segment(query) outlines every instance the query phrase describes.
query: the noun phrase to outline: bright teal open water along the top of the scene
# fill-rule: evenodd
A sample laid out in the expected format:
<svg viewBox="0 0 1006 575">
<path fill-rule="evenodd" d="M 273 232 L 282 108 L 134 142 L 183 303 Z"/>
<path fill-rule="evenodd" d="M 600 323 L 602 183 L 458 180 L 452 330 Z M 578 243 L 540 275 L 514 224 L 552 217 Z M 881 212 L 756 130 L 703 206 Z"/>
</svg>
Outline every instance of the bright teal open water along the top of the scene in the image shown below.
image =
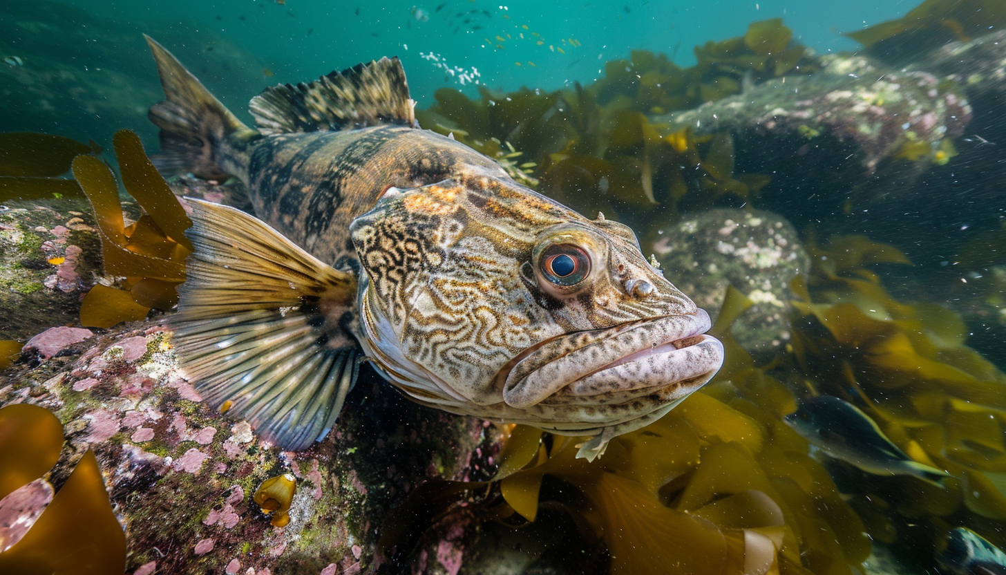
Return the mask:
<svg viewBox="0 0 1006 575">
<path fill-rule="evenodd" d="M 857 44 L 840 32 L 896 18 L 913 7 L 902 0 L 721 0 L 693 4 L 668 0 L 290 0 L 282 5 L 265 0 L 94 0 L 74 5 L 154 37 L 182 23 L 213 30 L 272 69 L 276 76 L 269 82 L 303 82 L 359 61 L 397 55 L 421 107 L 429 103 L 435 89 L 460 88 L 461 75 L 474 77 L 475 71 L 478 76 L 474 80 L 491 89 L 511 91 L 528 86 L 554 90 L 573 81 L 589 84 L 597 80 L 606 60 L 626 57 L 632 49 L 668 54 L 676 50 L 675 61 L 690 65 L 694 63 L 693 45 L 741 35 L 750 22 L 767 18 L 784 18 L 794 30 L 794 39 L 819 52 L 854 49 Z M 474 29 L 477 26 L 480 28 Z M 499 41 L 496 36 L 506 39 Z M 580 45 L 569 45 L 570 38 Z M 538 39 L 544 43 L 538 45 Z M 496 48 L 496 44 L 503 48 Z M 565 53 L 550 50 L 550 45 L 563 48 Z M 431 61 L 431 53 L 456 70 L 455 75 L 445 74 L 443 66 Z"/>
</svg>

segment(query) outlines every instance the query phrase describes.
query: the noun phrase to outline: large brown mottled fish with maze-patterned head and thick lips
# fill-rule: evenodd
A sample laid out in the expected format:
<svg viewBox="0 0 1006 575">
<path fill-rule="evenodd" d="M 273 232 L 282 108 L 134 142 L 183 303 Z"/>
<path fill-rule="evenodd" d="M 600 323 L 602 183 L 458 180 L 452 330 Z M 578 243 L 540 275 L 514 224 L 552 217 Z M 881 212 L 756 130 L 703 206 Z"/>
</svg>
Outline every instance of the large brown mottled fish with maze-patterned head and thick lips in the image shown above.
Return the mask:
<svg viewBox="0 0 1006 575">
<path fill-rule="evenodd" d="M 178 354 L 268 440 L 323 438 L 361 350 L 421 404 L 594 436 L 586 457 L 719 369 L 708 315 L 630 229 L 418 129 L 396 58 L 270 88 L 252 129 L 148 41 L 159 167 L 236 177 L 255 213 L 191 200 Z"/>
</svg>

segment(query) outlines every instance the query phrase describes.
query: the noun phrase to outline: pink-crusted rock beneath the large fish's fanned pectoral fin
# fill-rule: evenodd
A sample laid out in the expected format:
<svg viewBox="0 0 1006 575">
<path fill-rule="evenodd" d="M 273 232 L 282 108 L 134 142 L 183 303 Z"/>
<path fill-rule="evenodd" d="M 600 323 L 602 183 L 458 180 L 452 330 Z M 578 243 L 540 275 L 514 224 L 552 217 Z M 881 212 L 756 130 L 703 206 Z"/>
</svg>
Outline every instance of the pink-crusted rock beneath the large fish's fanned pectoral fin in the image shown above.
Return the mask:
<svg viewBox="0 0 1006 575">
<path fill-rule="evenodd" d="M 63 423 L 53 484 L 94 449 L 126 529 L 127 572 L 370 571 L 390 508 L 429 478 L 465 479 L 498 454 L 494 426 L 412 404 L 369 368 L 323 442 L 282 452 L 185 393 L 169 335 L 147 320 L 0 372 L 0 407 L 30 402 Z M 282 473 L 299 487 L 281 529 L 253 494 Z"/>
</svg>

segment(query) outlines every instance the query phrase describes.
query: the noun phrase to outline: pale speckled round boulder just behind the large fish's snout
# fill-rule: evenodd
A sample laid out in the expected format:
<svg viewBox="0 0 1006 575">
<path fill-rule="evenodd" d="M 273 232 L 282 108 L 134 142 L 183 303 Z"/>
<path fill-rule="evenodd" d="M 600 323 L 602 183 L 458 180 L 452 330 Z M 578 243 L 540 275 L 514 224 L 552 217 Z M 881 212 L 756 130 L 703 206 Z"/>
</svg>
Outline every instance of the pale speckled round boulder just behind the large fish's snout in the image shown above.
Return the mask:
<svg viewBox="0 0 1006 575">
<path fill-rule="evenodd" d="M 769 357 L 790 340 L 790 281 L 810 270 L 796 230 L 770 211 L 732 208 L 685 214 L 660 228 L 653 252 L 664 275 L 715 321 L 727 284 L 754 305 L 733 326 L 737 341 Z"/>
</svg>

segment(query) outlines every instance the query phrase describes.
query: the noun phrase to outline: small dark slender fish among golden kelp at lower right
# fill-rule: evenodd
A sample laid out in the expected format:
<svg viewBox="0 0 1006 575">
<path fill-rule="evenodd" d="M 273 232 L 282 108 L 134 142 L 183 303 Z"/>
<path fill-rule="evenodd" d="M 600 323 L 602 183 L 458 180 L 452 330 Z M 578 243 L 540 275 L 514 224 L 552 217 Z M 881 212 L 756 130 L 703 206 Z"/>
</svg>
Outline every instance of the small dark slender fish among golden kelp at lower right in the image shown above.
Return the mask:
<svg viewBox="0 0 1006 575">
<path fill-rule="evenodd" d="M 901 451 L 859 408 L 832 396 L 800 402 L 786 423 L 832 457 L 876 475 L 912 475 L 943 486 L 950 473 L 919 463 Z"/>
</svg>

